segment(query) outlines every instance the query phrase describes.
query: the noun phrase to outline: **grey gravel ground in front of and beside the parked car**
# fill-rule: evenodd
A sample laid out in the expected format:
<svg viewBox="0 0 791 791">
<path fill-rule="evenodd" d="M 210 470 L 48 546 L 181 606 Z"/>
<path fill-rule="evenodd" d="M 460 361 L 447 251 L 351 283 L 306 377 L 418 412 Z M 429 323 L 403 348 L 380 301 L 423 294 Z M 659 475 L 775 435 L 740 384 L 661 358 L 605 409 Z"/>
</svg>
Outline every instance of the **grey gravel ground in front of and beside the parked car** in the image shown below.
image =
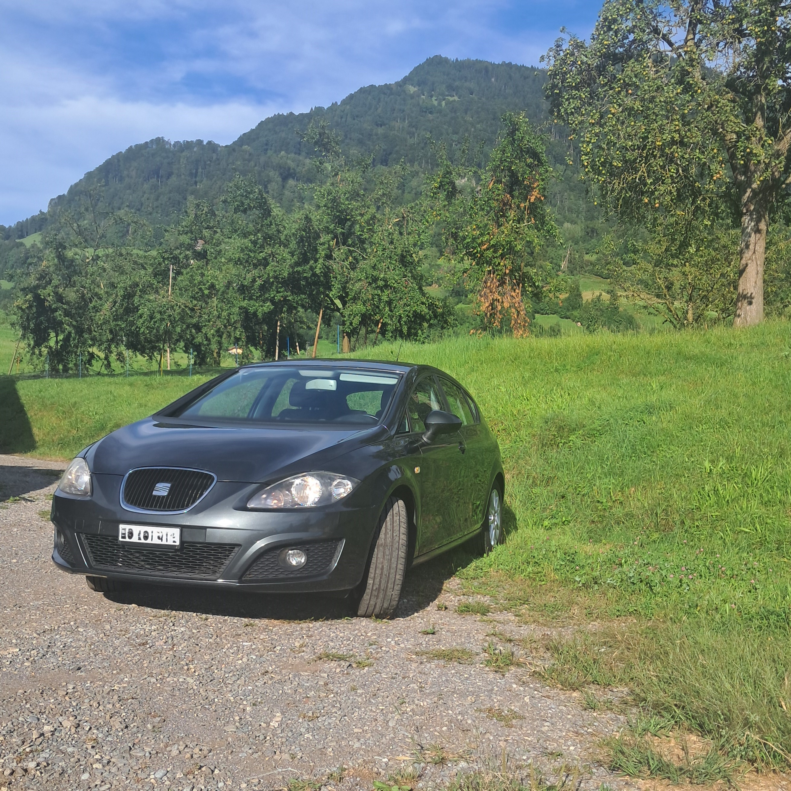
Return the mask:
<svg viewBox="0 0 791 791">
<path fill-rule="evenodd" d="M 60 469 L 0 456 L 0 791 L 430 789 L 504 763 L 624 785 L 596 763 L 623 717 L 531 675 L 522 641 L 547 630 L 457 613 L 447 564 L 410 573 L 387 622 L 318 596 L 105 596 L 50 560 Z M 487 667 L 490 642 L 525 664 Z"/>
</svg>

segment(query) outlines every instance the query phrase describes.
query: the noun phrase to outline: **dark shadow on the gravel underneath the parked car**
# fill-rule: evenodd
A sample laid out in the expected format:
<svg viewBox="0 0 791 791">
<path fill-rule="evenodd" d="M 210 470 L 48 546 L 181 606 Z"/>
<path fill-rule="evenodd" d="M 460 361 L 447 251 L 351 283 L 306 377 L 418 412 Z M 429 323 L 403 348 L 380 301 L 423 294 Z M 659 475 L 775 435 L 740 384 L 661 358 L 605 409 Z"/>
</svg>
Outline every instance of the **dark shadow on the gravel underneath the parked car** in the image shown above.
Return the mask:
<svg viewBox="0 0 791 791">
<path fill-rule="evenodd" d="M 474 557 L 465 545 L 407 572 L 395 617 L 406 618 L 428 607 L 440 595 L 445 582 Z M 326 593 L 272 594 L 238 589 L 129 585 L 123 591 L 104 596 L 116 604 L 229 618 L 303 621 L 338 620 L 354 615 L 350 597 L 332 597 Z"/>
</svg>

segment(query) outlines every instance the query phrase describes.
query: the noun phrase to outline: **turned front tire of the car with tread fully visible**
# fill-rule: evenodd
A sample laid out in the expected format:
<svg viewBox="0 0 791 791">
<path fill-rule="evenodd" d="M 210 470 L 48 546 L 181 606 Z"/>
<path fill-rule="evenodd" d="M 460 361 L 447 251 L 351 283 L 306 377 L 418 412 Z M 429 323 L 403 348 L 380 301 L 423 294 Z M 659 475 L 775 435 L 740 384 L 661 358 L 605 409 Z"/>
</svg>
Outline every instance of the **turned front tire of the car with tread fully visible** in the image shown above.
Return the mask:
<svg viewBox="0 0 791 791">
<path fill-rule="evenodd" d="M 409 517 L 407 504 L 392 497 L 382 509 L 377 524 L 377 543 L 365 581 L 357 614 L 361 618 L 389 618 L 398 605 L 407 570 L 409 547 Z"/>
</svg>

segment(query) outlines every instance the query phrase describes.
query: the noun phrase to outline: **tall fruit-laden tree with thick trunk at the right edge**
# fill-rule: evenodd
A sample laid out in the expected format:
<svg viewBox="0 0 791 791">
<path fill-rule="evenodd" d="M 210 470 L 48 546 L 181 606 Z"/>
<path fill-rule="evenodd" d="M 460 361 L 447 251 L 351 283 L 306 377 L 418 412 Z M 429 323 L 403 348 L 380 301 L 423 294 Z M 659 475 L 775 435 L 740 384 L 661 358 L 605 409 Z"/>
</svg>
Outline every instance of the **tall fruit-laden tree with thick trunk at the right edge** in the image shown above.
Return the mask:
<svg viewBox="0 0 791 791">
<path fill-rule="evenodd" d="M 686 259 L 732 208 L 734 324 L 762 320 L 770 213 L 791 184 L 791 3 L 607 0 L 589 43 L 559 39 L 547 61 L 554 117 L 607 210 Z"/>
</svg>

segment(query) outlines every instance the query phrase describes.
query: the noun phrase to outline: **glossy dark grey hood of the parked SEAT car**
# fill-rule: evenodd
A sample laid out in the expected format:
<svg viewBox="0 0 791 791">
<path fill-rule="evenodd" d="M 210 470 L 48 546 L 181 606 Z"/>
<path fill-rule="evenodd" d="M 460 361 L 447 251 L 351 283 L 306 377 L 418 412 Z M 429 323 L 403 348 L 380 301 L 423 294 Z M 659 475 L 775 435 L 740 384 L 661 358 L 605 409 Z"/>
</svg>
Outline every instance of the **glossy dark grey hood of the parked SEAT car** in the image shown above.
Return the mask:
<svg viewBox="0 0 791 791">
<path fill-rule="evenodd" d="M 183 426 L 146 418 L 108 434 L 86 458 L 91 471 L 99 474 L 126 475 L 135 467 L 190 467 L 213 472 L 221 481 L 263 483 L 280 472 L 285 476 L 322 469 L 381 430 Z"/>
</svg>

